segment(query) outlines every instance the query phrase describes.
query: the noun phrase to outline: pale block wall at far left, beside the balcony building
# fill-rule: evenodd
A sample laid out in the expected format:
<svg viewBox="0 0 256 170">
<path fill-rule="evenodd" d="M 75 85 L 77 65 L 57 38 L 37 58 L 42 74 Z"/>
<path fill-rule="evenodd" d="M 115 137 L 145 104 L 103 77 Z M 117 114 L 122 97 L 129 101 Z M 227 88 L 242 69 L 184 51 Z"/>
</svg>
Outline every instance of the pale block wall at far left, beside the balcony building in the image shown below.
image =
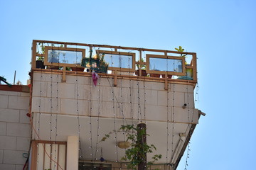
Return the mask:
<svg viewBox="0 0 256 170">
<path fill-rule="evenodd" d="M 28 92 L 0 91 L 0 169 L 23 169 L 31 141 L 28 108 Z"/>
</svg>

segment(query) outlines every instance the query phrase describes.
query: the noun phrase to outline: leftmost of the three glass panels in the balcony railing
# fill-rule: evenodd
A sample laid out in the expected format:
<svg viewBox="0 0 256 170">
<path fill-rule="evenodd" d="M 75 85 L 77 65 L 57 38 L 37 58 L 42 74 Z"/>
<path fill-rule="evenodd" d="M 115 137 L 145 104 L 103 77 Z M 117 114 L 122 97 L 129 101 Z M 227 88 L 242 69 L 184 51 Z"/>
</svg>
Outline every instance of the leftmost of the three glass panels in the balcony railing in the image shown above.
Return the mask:
<svg viewBox="0 0 256 170">
<path fill-rule="evenodd" d="M 48 50 L 48 62 L 80 64 L 82 52 L 68 50 Z"/>
</svg>

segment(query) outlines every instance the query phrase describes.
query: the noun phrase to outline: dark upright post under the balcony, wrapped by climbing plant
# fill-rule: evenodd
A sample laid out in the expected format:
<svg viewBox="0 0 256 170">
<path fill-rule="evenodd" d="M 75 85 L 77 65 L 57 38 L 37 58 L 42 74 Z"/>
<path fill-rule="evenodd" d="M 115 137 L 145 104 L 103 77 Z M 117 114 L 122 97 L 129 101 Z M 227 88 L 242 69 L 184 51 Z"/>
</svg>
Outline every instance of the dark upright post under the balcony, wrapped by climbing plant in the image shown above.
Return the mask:
<svg viewBox="0 0 256 170">
<path fill-rule="evenodd" d="M 137 140 L 140 143 L 140 145 L 146 144 L 146 124 L 145 123 L 139 123 L 137 125 L 139 130 L 137 130 Z M 144 131 L 142 133 L 141 131 Z M 144 150 L 141 150 L 141 155 L 138 155 L 138 159 L 142 159 L 142 162 L 138 165 L 138 170 L 146 170 L 146 154 L 144 153 Z M 144 155 L 144 157 L 142 157 Z"/>
</svg>

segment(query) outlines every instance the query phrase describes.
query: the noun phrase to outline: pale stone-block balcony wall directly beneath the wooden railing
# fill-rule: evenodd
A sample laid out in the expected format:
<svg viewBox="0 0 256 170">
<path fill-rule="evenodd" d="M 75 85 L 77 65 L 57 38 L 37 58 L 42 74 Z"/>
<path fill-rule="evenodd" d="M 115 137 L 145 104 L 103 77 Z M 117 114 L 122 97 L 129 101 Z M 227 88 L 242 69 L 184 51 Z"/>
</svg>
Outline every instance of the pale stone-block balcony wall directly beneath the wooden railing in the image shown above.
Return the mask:
<svg viewBox="0 0 256 170">
<path fill-rule="evenodd" d="M 169 84 L 166 91 L 163 82 L 118 79 L 117 87 L 112 87 L 113 79 L 102 77 L 95 87 L 91 77 L 61 79 L 59 74 L 33 74 L 33 113 L 198 123 L 190 85 Z"/>
</svg>

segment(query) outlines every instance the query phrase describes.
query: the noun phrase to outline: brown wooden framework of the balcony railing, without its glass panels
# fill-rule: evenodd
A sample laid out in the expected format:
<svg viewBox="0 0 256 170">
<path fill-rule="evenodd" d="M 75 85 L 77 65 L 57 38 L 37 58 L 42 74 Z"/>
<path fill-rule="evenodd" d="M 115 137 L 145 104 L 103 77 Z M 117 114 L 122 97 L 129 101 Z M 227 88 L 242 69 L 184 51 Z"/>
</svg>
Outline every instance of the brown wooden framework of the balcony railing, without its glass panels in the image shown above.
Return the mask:
<svg viewBox="0 0 256 170">
<path fill-rule="evenodd" d="M 78 43 L 78 42 L 59 42 L 59 41 L 48 41 L 48 40 L 33 40 L 33 46 L 32 46 L 32 60 L 31 60 L 31 70 L 33 71 L 41 71 L 41 72 L 55 72 L 52 69 L 37 69 L 36 68 L 36 57 L 45 57 L 46 54 L 38 54 L 36 49 L 38 47 L 38 43 L 48 43 L 48 44 L 58 44 L 58 45 L 63 45 L 64 47 L 56 47 L 57 49 L 60 48 L 64 48 L 64 49 L 70 49 L 69 47 L 67 47 L 68 45 L 76 45 L 76 46 L 85 46 L 85 47 L 89 47 L 90 50 L 92 50 L 92 47 L 102 47 L 102 48 L 110 48 L 111 50 L 114 49 L 114 52 L 117 52 L 118 50 L 134 50 L 139 52 L 139 61 L 135 62 L 135 57 L 133 57 L 133 65 L 132 65 L 132 69 L 128 69 L 127 71 L 124 71 L 123 68 L 111 68 L 112 69 L 112 74 L 107 74 L 107 77 L 112 77 L 114 78 L 114 86 L 117 86 L 117 79 L 142 79 L 143 81 L 164 81 L 164 89 L 168 89 L 168 84 L 169 83 L 176 83 L 176 84 L 193 84 L 193 86 L 196 86 L 197 84 L 197 64 L 196 64 L 196 52 L 178 52 L 178 51 L 171 51 L 171 50 L 155 50 L 155 49 L 147 49 L 147 48 L 137 48 L 137 47 L 122 47 L 122 46 L 114 46 L 114 45 L 95 45 L 95 44 L 85 44 L 85 43 Z M 53 48 L 53 47 L 50 47 Z M 75 48 L 76 50 L 78 50 L 78 48 Z M 85 50 L 85 49 L 82 49 Z M 103 51 L 106 52 L 107 50 L 99 50 L 99 51 Z M 149 61 L 147 60 L 146 62 L 142 62 L 142 52 L 162 52 L 164 54 L 164 56 L 166 56 L 168 58 L 169 53 L 173 53 L 173 54 L 179 54 L 179 55 L 192 55 L 192 60 L 190 64 L 184 64 L 185 69 L 193 69 L 193 80 L 186 80 L 186 79 L 169 79 L 168 75 L 172 74 L 172 75 L 184 75 L 184 73 L 180 74 L 178 72 L 158 72 L 157 74 L 164 74 L 166 75 L 165 78 L 156 78 L 156 77 L 142 77 L 142 76 L 127 76 L 127 75 L 119 75 L 117 74 L 117 71 L 121 71 L 121 72 L 133 72 L 135 69 L 135 65 L 139 64 L 140 66 L 142 66 L 142 64 L 146 64 L 149 66 Z M 123 52 L 122 52 L 123 53 Z M 131 52 L 124 52 L 123 54 L 132 54 Z M 85 53 L 84 53 L 85 54 Z M 114 54 L 114 53 L 113 53 Z M 118 54 L 118 52 L 117 52 Z M 119 54 L 121 54 L 119 52 Z M 135 55 L 135 53 L 134 53 Z M 149 55 L 150 56 L 150 55 Z M 161 55 L 158 55 L 161 56 Z M 171 56 L 170 56 L 171 57 Z M 179 59 L 181 59 L 179 57 Z M 48 63 L 47 63 L 48 64 Z M 60 66 L 63 67 L 63 70 L 56 70 L 56 72 L 58 72 L 59 74 L 63 74 L 63 79 L 62 81 L 65 81 L 65 77 L 66 74 L 80 74 L 80 75 L 84 75 L 84 76 L 88 76 L 86 72 L 75 72 L 75 71 L 66 71 L 65 67 L 70 67 L 70 65 L 65 65 L 65 64 L 60 64 L 60 63 L 50 63 L 50 65 L 55 65 L 55 66 Z M 78 66 L 78 64 L 73 64 L 73 67 L 80 67 Z M 149 67 L 147 67 L 149 68 Z M 149 73 L 154 73 L 155 71 L 152 70 L 147 70 Z M 183 71 L 184 72 L 184 71 Z M 179 75 L 178 75 L 179 74 Z M 139 75 L 142 75 L 142 69 L 139 68 Z M 105 74 L 102 74 L 102 76 L 105 76 Z"/>
</svg>

